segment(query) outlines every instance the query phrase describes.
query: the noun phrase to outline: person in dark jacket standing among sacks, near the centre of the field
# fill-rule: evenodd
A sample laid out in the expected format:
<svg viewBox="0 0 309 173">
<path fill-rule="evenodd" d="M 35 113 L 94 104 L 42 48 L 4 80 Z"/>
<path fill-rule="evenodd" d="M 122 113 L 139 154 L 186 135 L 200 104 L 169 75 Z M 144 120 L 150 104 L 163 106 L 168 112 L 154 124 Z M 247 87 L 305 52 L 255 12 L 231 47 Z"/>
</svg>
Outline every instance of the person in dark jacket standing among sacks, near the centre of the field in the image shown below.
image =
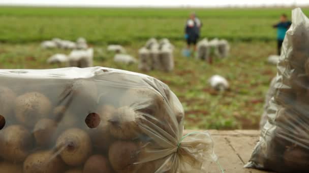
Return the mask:
<svg viewBox="0 0 309 173">
<path fill-rule="evenodd" d="M 198 19 L 195 13 L 190 14 L 190 18 L 187 20 L 186 27 L 184 29 L 184 37 L 187 40 L 187 51 L 190 56 L 190 46 L 193 45 L 194 51 L 196 51 L 196 43 L 200 37 L 200 28 L 202 23 Z"/>
</svg>

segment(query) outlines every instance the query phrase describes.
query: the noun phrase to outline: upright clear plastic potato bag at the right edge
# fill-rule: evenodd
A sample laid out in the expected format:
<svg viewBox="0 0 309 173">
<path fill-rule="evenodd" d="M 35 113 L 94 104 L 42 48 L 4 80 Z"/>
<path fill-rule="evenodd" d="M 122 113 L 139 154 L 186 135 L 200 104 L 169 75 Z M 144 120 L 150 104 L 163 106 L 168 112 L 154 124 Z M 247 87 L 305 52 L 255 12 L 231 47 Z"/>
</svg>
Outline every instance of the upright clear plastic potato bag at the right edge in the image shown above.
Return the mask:
<svg viewBox="0 0 309 173">
<path fill-rule="evenodd" d="M 298 8 L 277 65 L 275 93 L 246 167 L 309 172 L 309 19 Z"/>
</svg>

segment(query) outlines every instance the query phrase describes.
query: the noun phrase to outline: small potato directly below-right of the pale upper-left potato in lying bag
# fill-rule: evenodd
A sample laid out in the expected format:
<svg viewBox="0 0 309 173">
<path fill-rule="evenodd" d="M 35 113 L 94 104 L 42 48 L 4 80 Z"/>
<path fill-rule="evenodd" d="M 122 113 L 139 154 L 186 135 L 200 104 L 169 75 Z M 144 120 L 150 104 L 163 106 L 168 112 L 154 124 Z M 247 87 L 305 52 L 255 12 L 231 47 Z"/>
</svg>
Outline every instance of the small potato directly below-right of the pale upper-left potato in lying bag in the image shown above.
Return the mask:
<svg viewBox="0 0 309 173">
<path fill-rule="evenodd" d="M 48 146 L 57 129 L 56 121 L 48 118 L 39 120 L 33 130 L 35 141 L 38 146 Z"/>
</svg>

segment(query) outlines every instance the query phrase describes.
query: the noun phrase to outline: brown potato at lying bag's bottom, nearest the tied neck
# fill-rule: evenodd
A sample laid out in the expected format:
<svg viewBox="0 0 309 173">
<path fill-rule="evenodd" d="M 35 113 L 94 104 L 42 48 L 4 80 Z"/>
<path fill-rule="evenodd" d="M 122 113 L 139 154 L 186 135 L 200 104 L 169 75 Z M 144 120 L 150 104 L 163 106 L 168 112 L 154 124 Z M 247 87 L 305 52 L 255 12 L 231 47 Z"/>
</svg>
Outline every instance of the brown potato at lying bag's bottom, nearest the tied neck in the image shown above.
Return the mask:
<svg viewBox="0 0 309 173">
<path fill-rule="evenodd" d="M 129 141 L 116 141 L 108 151 L 108 158 L 117 172 L 132 172 L 136 169 L 135 163 L 138 160 L 139 145 Z"/>
</svg>

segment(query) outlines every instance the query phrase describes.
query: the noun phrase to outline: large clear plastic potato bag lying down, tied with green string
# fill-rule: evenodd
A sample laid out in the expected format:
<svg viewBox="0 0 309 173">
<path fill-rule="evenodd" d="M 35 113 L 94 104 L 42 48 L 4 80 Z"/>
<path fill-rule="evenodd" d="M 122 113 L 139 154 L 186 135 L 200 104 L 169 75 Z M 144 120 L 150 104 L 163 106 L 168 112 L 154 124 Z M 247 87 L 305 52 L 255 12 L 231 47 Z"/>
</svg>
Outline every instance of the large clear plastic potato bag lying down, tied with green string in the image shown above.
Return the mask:
<svg viewBox="0 0 309 173">
<path fill-rule="evenodd" d="M 1 172 L 205 172 L 208 133 L 182 138 L 163 82 L 109 69 L 0 70 Z"/>
</svg>

